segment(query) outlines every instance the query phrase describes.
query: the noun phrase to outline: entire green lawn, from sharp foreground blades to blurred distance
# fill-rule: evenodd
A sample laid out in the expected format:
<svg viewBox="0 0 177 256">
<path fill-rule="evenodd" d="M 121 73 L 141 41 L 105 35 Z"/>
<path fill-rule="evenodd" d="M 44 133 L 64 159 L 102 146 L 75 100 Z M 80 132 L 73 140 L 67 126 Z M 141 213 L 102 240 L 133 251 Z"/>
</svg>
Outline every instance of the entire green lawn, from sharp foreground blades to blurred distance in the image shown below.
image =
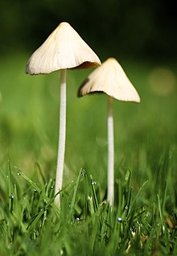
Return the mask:
<svg viewBox="0 0 177 256">
<path fill-rule="evenodd" d="M 153 64 L 122 60 L 142 103 L 114 101 L 111 209 L 105 200 L 107 98 L 78 99 L 90 71 L 68 72 L 60 211 L 53 204 L 59 74 L 27 76 L 27 58 L 10 56 L 0 64 L 0 255 L 176 255 L 176 82 L 161 95 L 150 84 Z"/>
</svg>

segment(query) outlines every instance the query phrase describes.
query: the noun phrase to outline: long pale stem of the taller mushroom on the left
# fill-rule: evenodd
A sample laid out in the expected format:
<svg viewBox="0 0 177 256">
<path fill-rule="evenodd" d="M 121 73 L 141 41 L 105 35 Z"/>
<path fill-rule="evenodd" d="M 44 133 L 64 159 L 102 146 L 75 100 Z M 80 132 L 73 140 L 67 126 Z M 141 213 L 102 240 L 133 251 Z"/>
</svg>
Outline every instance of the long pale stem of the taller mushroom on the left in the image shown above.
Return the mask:
<svg viewBox="0 0 177 256">
<path fill-rule="evenodd" d="M 66 139 L 66 74 L 67 69 L 60 70 L 60 128 L 58 156 L 56 165 L 55 194 L 59 192 L 62 188 L 64 173 L 64 151 Z M 55 203 L 60 207 L 60 194 L 56 196 Z"/>
</svg>

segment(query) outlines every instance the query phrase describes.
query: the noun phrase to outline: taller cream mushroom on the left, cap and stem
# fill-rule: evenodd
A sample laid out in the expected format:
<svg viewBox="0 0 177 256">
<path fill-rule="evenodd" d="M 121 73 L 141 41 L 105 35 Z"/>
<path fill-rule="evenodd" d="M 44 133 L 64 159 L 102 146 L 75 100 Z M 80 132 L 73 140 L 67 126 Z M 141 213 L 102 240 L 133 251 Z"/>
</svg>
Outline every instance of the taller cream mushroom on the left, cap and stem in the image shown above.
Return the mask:
<svg viewBox="0 0 177 256">
<path fill-rule="evenodd" d="M 66 76 L 68 68 L 93 68 L 101 61 L 93 50 L 68 24 L 60 23 L 28 60 L 26 72 L 31 75 L 60 70 L 60 129 L 56 167 L 55 193 L 63 184 L 66 137 Z M 55 203 L 60 207 L 60 194 Z"/>
</svg>

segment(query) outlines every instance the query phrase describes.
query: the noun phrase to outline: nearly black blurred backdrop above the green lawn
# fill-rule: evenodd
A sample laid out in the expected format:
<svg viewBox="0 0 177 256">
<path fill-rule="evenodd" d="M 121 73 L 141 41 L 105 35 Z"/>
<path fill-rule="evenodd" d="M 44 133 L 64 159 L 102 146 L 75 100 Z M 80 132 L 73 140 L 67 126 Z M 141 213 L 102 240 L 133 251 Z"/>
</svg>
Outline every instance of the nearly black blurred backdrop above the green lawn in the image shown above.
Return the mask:
<svg viewBox="0 0 177 256">
<path fill-rule="evenodd" d="M 0 53 L 33 52 L 67 21 L 98 56 L 157 61 L 177 56 L 175 2 L 8 0 L 0 4 Z"/>
</svg>

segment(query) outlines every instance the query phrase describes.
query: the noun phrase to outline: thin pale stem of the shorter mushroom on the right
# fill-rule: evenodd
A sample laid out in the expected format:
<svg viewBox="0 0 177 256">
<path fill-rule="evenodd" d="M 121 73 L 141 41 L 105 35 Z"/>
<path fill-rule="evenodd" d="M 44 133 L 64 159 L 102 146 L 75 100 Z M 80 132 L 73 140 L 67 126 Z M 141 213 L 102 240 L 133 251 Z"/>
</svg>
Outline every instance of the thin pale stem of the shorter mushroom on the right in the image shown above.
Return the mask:
<svg viewBox="0 0 177 256">
<path fill-rule="evenodd" d="M 108 98 L 108 201 L 114 200 L 113 97 Z"/>
</svg>

